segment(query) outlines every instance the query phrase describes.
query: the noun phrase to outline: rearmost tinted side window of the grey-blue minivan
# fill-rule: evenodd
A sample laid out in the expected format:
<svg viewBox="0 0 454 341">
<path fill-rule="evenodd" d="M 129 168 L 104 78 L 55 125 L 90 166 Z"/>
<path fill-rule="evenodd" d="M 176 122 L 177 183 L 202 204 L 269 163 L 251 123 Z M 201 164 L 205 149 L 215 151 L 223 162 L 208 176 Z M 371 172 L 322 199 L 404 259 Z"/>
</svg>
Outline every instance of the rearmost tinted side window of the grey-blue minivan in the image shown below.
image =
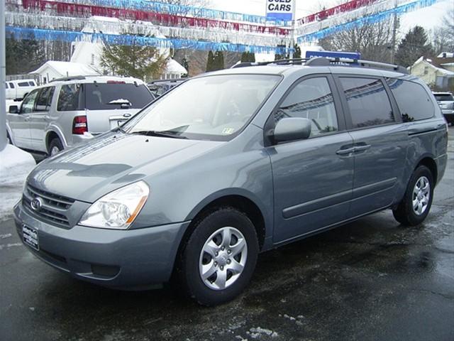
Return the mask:
<svg viewBox="0 0 454 341">
<path fill-rule="evenodd" d="M 433 117 L 432 101 L 422 85 L 395 78 L 387 78 L 386 81 L 394 99 L 396 99 L 404 122 L 420 121 Z"/>
</svg>

